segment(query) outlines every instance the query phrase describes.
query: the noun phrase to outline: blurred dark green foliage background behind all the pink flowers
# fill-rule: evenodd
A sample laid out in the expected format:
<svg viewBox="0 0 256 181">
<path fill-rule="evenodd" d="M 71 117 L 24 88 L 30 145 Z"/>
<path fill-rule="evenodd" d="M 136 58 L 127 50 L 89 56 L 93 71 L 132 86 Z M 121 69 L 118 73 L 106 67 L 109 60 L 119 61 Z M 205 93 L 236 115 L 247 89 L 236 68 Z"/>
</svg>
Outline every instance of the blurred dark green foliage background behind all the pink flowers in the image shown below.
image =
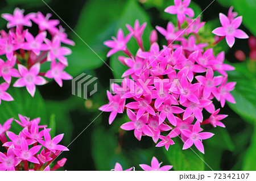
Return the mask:
<svg viewBox="0 0 256 181">
<path fill-rule="evenodd" d="M 164 13 L 172 0 L 44 0 L 98 55 L 109 64 L 104 64 L 65 23 L 61 25 L 68 32 L 69 38 L 76 46 L 68 57 L 69 66 L 66 69 L 73 77 L 81 73 L 98 78 L 98 91 L 88 100 L 71 95 L 71 81 L 65 81 L 63 88 L 50 82 L 38 86 L 35 98 L 32 99 L 26 89 L 11 89 L 15 102 L 2 102 L 0 106 L 0 123 L 10 117 L 18 118 L 18 113 L 34 117 L 42 117 L 42 123 L 52 128 L 52 135 L 65 133 L 62 144 L 68 145 L 81 133 L 100 113 L 98 107 L 106 104 L 106 90 L 109 90 L 109 79 L 120 78 L 126 68 L 117 60 L 118 54 L 106 58 L 108 48 L 103 45 L 105 40 L 115 36 L 118 28 L 125 30 L 125 24 L 147 22 L 144 33 L 146 48 L 149 47 L 148 36 L 156 25 L 166 27 L 168 21 L 176 23 L 175 15 Z M 52 13 L 52 18 L 59 19 L 41 0 L 1 0 L 0 13 L 13 13 L 15 7 L 24 9 L 25 13 L 41 11 L 44 15 Z M 190 7 L 195 16 L 199 15 L 212 0 L 192 0 Z M 201 35 L 213 39 L 210 33 L 220 26 L 219 12 L 227 14 L 230 6 L 243 16 L 241 29 L 249 36 L 256 35 L 256 1 L 254 0 L 216 0 L 202 14 L 206 21 Z M 0 20 L 0 29 L 6 30 L 6 20 Z M 127 30 L 125 30 L 127 33 Z M 159 35 L 159 44 L 164 44 Z M 137 49 L 135 41 L 128 47 L 134 52 Z M 229 116 L 224 120 L 225 128 L 205 127 L 205 130 L 216 133 L 204 141 L 205 154 L 197 154 L 204 159 L 213 170 L 256 170 L 256 63 L 249 58 L 248 40 L 238 40 L 232 49 L 225 41 L 216 47 L 215 54 L 221 50 L 226 52 L 226 62 L 236 67 L 229 73 L 229 81 L 236 81 L 237 86 L 232 94 L 237 104 L 226 104 L 221 109 L 222 114 Z M 241 62 L 234 52 L 242 50 L 247 58 Z M 89 87 L 93 90 L 93 86 Z M 216 102 L 216 109 L 220 104 Z M 207 117 L 207 113 L 205 117 Z M 120 125 L 127 121 L 126 114 L 118 115 L 114 123 L 108 124 L 109 113 L 102 113 L 70 146 L 69 150 L 60 155 L 68 159 L 66 170 L 110 170 L 115 162 L 121 163 L 124 169 L 139 164 L 150 164 L 155 156 L 164 165 L 174 165 L 174 170 L 210 170 L 192 150 L 181 150 L 179 138 L 174 141 L 169 151 L 155 148 L 150 137 L 138 141 L 132 131 L 123 132 Z M 13 131 L 18 130 L 13 124 Z M 192 147 L 194 149 L 194 146 Z M 194 149 L 196 150 L 196 149 Z"/>
</svg>

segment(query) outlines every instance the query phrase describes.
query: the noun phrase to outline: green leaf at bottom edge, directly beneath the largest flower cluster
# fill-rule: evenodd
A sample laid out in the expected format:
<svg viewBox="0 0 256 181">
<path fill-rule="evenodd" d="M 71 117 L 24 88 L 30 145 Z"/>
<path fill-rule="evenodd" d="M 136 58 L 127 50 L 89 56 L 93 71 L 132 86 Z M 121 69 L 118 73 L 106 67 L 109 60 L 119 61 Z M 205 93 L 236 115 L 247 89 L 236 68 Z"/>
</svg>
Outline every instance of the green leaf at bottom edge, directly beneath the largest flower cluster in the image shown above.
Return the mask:
<svg viewBox="0 0 256 181">
<path fill-rule="evenodd" d="M 164 151 L 174 170 L 193 171 L 204 170 L 204 155 L 194 146 L 192 149 L 182 150 L 183 143 L 177 140 L 174 145 L 170 146 L 168 151 Z"/>
</svg>

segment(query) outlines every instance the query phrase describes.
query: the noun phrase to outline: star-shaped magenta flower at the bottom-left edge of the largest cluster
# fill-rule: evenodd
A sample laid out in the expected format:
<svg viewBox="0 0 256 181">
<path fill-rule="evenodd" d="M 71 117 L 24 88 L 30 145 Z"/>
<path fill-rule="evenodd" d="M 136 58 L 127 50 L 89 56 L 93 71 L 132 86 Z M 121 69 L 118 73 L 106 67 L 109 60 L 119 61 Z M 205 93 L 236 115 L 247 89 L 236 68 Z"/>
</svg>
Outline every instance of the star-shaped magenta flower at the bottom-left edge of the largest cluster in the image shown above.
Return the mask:
<svg viewBox="0 0 256 181">
<path fill-rule="evenodd" d="M 136 118 L 135 113 L 129 109 L 127 109 L 127 115 L 131 121 L 122 124 L 120 128 L 126 131 L 134 130 L 134 136 L 139 141 L 141 141 L 142 133 L 146 134 L 147 136 L 154 136 L 153 132 L 146 124 L 148 121 L 148 113 L 141 116 L 141 118 L 138 120 Z"/>
</svg>

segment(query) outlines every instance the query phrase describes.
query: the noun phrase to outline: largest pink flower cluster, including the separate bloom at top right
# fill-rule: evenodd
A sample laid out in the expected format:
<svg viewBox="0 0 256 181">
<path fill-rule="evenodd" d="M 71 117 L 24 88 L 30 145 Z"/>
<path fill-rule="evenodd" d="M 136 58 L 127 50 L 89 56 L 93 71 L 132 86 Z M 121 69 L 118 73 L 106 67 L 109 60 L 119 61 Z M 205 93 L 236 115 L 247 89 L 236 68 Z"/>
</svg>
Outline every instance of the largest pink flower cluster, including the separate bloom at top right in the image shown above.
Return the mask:
<svg viewBox="0 0 256 181">
<path fill-rule="evenodd" d="M 121 128 L 133 130 L 138 140 L 142 136 L 150 136 L 157 143 L 160 139 L 156 146 L 165 146 L 168 150 L 170 145 L 175 144 L 173 138 L 179 137 L 184 142 L 183 149 L 195 144 L 204 153 L 202 140 L 212 137 L 213 133 L 202 132 L 201 125 L 225 127 L 220 120 L 226 115 L 218 114 L 220 109 L 216 110 L 213 99 L 220 102 L 221 107 L 224 107 L 226 101 L 236 103 L 230 94 L 236 82 L 227 82 L 226 73 L 234 68 L 224 64 L 224 52 L 216 56 L 213 48 L 207 48 L 208 43 L 199 42 L 198 32 L 204 22 L 200 22 L 199 18 L 191 19 L 194 13 L 188 8 L 190 0 L 174 2 L 175 5 L 167 7 L 166 12 L 177 14 L 178 26 L 175 27 L 172 22 L 168 23 L 167 29 L 156 26 L 156 30 L 167 40 L 163 48 L 156 43 L 158 37 L 153 30 L 150 50 L 144 50 L 141 39 L 145 24 L 140 27 L 138 20 L 134 28 L 127 25 L 129 35 L 124 36 L 120 29 L 117 38 L 105 42 L 105 45 L 112 48 L 108 56 L 118 51 L 126 54 L 118 59 L 128 69 L 122 75 L 121 86 L 112 84 L 114 95 L 108 91 L 109 103 L 99 110 L 111 112 L 109 124 L 112 124 L 117 113 L 126 110 L 131 121 L 121 125 Z M 230 45 L 233 36 L 245 36 L 235 30 L 241 24 L 241 16 L 234 19 L 234 12 L 229 16 L 230 20 L 222 14 L 220 18 L 227 32 L 221 36 L 226 36 Z M 230 31 L 233 28 L 234 33 L 230 33 L 228 28 Z M 241 36 L 237 36 L 240 33 Z M 127 48 L 131 37 L 137 40 L 139 46 L 135 55 Z M 203 110 L 209 116 L 203 116 Z"/>
</svg>

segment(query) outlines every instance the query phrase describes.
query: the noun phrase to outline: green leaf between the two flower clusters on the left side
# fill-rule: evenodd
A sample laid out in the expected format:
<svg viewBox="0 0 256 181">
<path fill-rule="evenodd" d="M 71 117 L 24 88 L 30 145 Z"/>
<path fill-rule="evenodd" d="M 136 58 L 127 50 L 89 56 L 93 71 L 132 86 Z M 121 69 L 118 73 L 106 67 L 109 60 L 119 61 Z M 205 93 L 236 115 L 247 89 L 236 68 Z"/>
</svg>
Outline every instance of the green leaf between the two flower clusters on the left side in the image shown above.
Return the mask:
<svg viewBox="0 0 256 181">
<path fill-rule="evenodd" d="M 14 117 L 19 120 L 18 114 L 34 119 L 41 117 L 40 124 L 47 124 L 46 107 L 44 100 L 39 91 L 36 90 L 34 98 L 28 94 L 26 88 L 10 87 L 7 92 L 13 96 L 14 101 L 2 101 L 0 105 L 0 123 L 4 123 L 7 119 Z M 20 132 L 20 126 L 16 123 L 12 124 L 11 131 Z"/>
</svg>

